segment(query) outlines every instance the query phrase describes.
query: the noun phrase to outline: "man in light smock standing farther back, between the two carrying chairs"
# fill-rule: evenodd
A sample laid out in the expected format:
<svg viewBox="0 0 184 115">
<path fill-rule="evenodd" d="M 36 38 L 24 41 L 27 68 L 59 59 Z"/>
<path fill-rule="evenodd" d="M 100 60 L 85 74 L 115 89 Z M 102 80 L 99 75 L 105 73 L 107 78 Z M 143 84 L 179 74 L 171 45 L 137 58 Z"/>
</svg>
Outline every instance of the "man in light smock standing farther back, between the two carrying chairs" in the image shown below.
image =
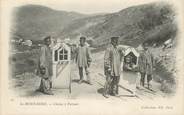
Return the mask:
<svg viewBox="0 0 184 115">
<path fill-rule="evenodd" d="M 85 69 L 86 77 L 87 77 L 87 83 L 92 85 L 91 79 L 90 79 L 90 72 L 89 67 L 91 64 L 91 52 L 89 47 L 86 45 L 86 38 L 80 37 L 80 44 L 76 50 L 76 62 L 79 68 L 79 84 L 81 84 L 84 81 L 84 75 L 83 75 L 83 69 Z"/>
</svg>

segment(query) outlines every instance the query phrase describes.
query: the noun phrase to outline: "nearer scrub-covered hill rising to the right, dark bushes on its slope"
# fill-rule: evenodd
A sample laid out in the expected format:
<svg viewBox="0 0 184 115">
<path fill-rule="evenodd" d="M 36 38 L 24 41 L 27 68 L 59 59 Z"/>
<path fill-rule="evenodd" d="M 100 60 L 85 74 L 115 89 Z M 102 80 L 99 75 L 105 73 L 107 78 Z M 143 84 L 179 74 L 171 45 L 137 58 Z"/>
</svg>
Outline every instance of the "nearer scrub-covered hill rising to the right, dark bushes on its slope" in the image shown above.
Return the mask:
<svg viewBox="0 0 184 115">
<path fill-rule="evenodd" d="M 148 39 L 163 42 L 170 38 L 170 34 L 176 33 L 173 19 L 174 12 L 168 4 L 145 4 L 112 14 L 75 20 L 64 28 L 60 37 L 75 39 L 80 34 L 86 35 L 94 40 L 94 47 L 106 45 L 111 36 L 120 36 L 121 43 L 131 46 Z"/>
</svg>

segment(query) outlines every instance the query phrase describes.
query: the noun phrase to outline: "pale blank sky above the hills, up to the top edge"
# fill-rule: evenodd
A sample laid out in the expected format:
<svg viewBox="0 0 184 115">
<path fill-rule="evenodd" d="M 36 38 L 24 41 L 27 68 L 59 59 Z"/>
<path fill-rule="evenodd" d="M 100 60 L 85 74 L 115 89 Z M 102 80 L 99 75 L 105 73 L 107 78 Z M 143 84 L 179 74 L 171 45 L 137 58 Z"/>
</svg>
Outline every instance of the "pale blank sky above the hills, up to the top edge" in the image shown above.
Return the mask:
<svg viewBox="0 0 184 115">
<path fill-rule="evenodd" d="M 11 1 L 11 4 L 14 4 L 15 6 L 35 4 L 47 6 L 56 10 L 75 11 L 83 14 L 95 14 L 117 12 L 130 6 L 155 1 L 158 0 L 14 0 Z"/>
</svg>

